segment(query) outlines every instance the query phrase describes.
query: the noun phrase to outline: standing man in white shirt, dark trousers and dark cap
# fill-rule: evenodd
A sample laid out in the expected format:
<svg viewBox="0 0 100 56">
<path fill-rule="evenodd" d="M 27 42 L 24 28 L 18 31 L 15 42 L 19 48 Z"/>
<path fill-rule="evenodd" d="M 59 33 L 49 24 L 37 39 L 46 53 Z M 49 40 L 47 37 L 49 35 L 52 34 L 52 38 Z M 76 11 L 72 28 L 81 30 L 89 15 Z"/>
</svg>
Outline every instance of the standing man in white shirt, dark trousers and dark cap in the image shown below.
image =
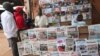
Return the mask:
<svg viewBox="0 0 100 56">
<path fill-rule="evenodd" d="M 17 26 L 13 15 L 13 5 L 10 2 L 4 2 L 3 8 L 5 11 L 1 14 L 1 23 L 3 31 L 8 39 L 9 46 L 12 49 L 13 56 L 19 56 L 17 48 Z"/>
</svg>

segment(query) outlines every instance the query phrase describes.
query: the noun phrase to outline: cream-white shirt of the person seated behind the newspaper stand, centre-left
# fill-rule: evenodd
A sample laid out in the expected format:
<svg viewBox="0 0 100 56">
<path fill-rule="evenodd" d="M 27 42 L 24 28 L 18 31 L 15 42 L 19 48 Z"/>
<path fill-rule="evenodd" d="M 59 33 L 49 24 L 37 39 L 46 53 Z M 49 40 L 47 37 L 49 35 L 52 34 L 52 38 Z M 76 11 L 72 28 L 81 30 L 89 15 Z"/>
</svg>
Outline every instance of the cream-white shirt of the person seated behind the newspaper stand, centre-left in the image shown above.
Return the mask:
<svg viewBox="0 0 100 56">
<path fill-rule="evenodd" d="M 35 26 L 44 27 L 48 25 L 48 19 L 45 15 L 43 16 L 36 16 L 35 18 Z"/>
</svg>

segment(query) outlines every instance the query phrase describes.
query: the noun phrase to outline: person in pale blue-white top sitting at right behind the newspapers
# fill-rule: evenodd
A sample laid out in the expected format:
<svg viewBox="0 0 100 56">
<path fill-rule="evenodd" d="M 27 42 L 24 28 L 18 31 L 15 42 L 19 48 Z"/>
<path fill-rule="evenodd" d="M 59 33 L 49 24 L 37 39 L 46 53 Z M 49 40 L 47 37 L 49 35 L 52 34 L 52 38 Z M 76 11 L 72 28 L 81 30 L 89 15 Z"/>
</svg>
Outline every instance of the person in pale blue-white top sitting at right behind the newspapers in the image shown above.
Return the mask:
<svg viewBox="0 0 100 56">
<path fill-rule="evenodd" d="M 72 26 L 86 25 L 86 22 L 83 20 L 82 12 L 79 12 L 79 14 L 73 16 L 73 20 L 72 20 L 71 24 L 72 24 Z"/>
</svg>

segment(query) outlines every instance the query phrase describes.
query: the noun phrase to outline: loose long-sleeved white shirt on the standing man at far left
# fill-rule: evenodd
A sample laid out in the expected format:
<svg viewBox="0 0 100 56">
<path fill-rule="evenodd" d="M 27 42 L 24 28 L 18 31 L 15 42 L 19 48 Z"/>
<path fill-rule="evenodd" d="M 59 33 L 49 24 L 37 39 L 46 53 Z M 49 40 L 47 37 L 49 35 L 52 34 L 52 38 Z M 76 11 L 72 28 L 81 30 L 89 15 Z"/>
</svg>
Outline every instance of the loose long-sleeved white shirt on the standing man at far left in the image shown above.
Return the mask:
<svg viewBox="0 0 100 56">
<path fill-rule="evenodd" d="M 4 34 L 7 38 L 17 37 L 17 27 L 13 14 L 9 11 L 4 11 L 1 14 L 1 23 Z"/>
</svg>

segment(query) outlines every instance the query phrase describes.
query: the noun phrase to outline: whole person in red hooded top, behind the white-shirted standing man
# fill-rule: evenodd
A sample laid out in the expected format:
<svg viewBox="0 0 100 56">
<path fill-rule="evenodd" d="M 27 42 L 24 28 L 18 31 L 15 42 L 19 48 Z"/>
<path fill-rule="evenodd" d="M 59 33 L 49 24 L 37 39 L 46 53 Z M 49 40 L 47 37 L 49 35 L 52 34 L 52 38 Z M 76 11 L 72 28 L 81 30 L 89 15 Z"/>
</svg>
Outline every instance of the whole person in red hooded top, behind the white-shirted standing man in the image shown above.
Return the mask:
<svg viewBox="0 0 100 56">
<path fill-rule="evenodd" d="M 23 16 L 23 7 L 16 7 L 16 9 L 14 10 L 14 17 L 15 17 L 15 21 L 16 21 L 16 25 L 18 28 L 18 38 L 21 41 L 20 38 L 20 31 L 25 30 L 27 27 L 25 25 L 25 19 Z"/>
</svg>

